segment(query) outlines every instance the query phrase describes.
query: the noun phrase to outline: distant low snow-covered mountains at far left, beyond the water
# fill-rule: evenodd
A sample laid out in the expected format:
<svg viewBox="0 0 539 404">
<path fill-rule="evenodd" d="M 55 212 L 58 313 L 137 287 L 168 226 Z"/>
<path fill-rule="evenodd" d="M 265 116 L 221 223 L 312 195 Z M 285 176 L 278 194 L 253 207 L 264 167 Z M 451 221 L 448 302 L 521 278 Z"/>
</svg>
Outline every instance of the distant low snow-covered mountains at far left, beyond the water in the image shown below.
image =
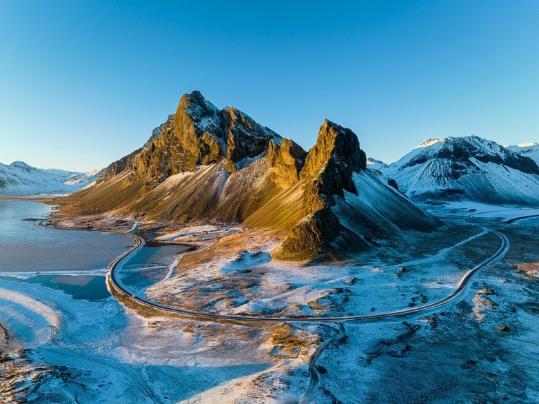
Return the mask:
<svg viewBox="0 0 539 404">
<path fill-rule="evenodd" d="M 96 181 L 102 172 L 45 170 L 23 161 L 10 165 L 0 163 L 0 195 L 70 194 Z"/>
</svg>

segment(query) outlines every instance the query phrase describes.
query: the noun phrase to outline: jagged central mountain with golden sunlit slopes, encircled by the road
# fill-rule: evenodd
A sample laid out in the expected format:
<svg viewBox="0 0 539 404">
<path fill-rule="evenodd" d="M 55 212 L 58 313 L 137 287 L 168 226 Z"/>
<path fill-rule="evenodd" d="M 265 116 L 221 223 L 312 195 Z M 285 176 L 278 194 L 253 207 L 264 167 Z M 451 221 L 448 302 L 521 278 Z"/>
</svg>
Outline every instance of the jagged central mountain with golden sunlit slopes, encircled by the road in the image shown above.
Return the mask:
<svg viewBox="0 0 539 404">
<path fill-rule="evenodd" d="M 243 223 L 278 237 L 272 254 L 284 259 L 340 256 L 440 225 L 366 167 L 352 130 L 326 120 L 307 153 L 195 91 L 142 148 L 60 203 L 66 215 Z"/>
</svg>

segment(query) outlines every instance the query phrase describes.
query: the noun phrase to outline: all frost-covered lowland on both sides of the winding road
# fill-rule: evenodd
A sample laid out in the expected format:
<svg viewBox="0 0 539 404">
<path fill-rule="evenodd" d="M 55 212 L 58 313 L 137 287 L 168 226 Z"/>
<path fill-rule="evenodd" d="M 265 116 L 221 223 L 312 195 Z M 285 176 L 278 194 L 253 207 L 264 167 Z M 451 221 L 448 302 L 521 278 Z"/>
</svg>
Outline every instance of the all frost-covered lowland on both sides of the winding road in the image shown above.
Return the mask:
<svg viewBox="0 0 539 404">
<path fill-rule="evenodd" d="M 345 338 L 316 360 L 311 399 L 537 402 L 538 221 L 504 223 L 515 212 L 533 214 L 516 207 L 431 209 L 449 223 L 440 232 L 410 232 L 347 263 L 275 262 L 266 234 L 205 226 L 158 235 L 167 243 L 196 243 L 198 250 L 150 243 L 120 273 L 136 293 L 197 310 L 381 313 L 451 293 L 498 248 L 500 240 L 487 231 L 493 228 L 508 237 L 507 255 L 480 270 L 451 303 L 402 318 L 344 323 Z M 0 401 L 296 403 L 309 385 L 309 358 L 337 334 L 330 321 L 261 325 L 163 316 L 103 293 L 102 272 L 79 268 L 71 275 L 0 277 Z"/>
</svg>

